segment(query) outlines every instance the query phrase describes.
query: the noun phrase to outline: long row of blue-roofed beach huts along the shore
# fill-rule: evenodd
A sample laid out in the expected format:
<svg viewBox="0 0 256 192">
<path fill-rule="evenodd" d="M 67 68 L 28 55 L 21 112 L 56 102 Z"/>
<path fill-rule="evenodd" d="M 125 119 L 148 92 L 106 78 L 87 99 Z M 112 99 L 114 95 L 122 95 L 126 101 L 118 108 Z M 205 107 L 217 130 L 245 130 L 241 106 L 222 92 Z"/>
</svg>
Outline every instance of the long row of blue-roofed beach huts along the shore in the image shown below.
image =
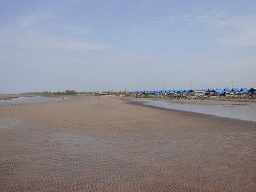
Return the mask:
<svg viewBox="0 0 256 192">
<path fill-rule="evenodd" d="M 134 94 L 187 94 L 187 95 L 237 95 L 237 94 L 256 94 L 256 88 L 233 88 L 233 89 L 202 89 L 202 90 L 162 90 L 162 91 L 134 91 Z"/>
</svg>

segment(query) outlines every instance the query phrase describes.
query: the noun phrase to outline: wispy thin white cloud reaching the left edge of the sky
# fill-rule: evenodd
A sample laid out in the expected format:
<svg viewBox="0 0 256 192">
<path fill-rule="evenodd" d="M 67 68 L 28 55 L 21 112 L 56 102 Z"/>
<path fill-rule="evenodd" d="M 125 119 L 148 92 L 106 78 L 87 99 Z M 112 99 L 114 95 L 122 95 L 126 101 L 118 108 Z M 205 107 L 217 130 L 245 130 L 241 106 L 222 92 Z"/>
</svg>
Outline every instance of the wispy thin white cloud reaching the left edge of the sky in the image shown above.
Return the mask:
<svg viewBox="0 0 256 192">
<path fill-rule="evenodd" d="M 45 15 L 45 16 L 44 16 Z M 51 23 L 52 16 L 30 14 L 0 29 L 1 47 L 55 48 L 74 51 L 106 50 L 108 45 L 81 40 L 90 30 L 73 25 Z M 84 37 L 83 37 L 84 38 Z"/>
</svg>

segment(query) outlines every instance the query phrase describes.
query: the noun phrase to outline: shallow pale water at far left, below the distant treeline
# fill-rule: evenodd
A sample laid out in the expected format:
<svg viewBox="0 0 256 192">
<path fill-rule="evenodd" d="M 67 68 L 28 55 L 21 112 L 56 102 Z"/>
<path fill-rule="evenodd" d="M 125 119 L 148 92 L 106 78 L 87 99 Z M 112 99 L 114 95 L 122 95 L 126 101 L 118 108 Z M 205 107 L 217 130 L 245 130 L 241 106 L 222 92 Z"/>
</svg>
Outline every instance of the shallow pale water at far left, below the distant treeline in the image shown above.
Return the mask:
<svg viewBox="0 0 256 192">
<path fill-rule="evenodd" d="M 33 103 L 33 102 L 52 102 L 62 100 L 61 97 L 47 97 L 47 96 L 34 96 L 34 97 L 18 97 L 10 100 L 0 100 L 0 105 L 2 104 L 22 104 L 22 103 Z M 67 98 L 66 98 L 67 99 Z"/>
</svg>

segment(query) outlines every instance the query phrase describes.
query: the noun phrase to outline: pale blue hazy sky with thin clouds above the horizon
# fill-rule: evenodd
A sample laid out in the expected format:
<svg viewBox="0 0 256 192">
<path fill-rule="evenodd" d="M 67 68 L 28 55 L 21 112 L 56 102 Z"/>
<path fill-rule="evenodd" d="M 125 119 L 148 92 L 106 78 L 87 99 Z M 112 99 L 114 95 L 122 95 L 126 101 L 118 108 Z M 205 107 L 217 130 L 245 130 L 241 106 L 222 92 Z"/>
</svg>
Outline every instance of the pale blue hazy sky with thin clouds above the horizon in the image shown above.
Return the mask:
<svg viewBox="0 0 256 192">
<path fill-rule="evenodd" d="M 256 87 L 255 0 L 0 0 L 0 93 Z"/>
</svg>

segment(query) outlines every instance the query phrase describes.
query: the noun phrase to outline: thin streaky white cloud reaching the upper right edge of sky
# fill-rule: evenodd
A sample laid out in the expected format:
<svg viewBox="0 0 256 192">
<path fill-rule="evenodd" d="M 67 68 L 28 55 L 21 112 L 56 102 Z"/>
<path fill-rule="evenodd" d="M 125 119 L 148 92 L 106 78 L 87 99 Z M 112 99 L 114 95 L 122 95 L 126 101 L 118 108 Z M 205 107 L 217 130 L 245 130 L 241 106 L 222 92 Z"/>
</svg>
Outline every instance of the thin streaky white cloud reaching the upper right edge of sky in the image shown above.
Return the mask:
<svg viewBox="0 0 256 192">
<path fill-rule="evenodd" d="M 217 39 L 221 44 L 232 47 L 256 46 L 256 13 L 241 15 L 233 8 L 218 10 L 192 9 L 186 14 L 169 16 L 154 23 L 184 23 L 186 25 L 211 26 L 216 29 L 227 29 L 223 37 Z"/>
</svg>

